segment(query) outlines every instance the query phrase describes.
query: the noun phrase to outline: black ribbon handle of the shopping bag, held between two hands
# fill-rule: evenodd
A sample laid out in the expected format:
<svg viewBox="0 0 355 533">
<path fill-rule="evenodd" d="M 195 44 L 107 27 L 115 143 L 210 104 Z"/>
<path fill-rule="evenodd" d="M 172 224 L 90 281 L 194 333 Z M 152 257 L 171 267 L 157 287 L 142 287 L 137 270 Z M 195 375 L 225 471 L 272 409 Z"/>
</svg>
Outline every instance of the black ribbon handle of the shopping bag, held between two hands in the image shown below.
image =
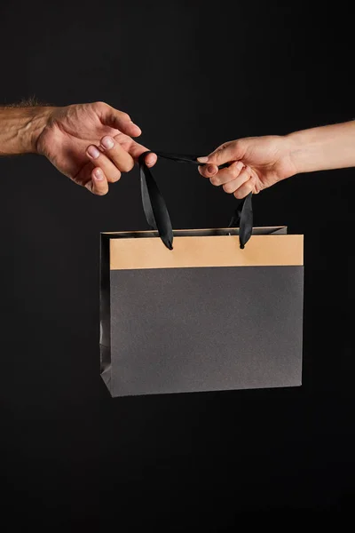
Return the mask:
<svg viewBox="0 0 355 533">
<path fill-rule="evenodd" d="M 140 190 L 142 195 L 143 210 L 146 221 L 152 229 L 158 230 L 158 234 L 169 250 L 172 250 L 173 230 L 171 226 L 169 211 L 167 209 L 162 193 L 156 184 L 152 171 L 146 166 L 146 155 L 152 153 L 150 150 L 139 156 Z M 158 157 L 170 159 L 176 163 L 190 163 L 201 165 L 195 155 L 167 154 L 165 152 L 153 152 Z M 229 166 L 229 163 L 221 164 L 218 169 Z M 234 211 L 229 227 L 240 227 L 239 240 L 241 250 L 253 231 L 253 207 L 252 193 L 239 201 L 237 209 Z"/>
</svg>

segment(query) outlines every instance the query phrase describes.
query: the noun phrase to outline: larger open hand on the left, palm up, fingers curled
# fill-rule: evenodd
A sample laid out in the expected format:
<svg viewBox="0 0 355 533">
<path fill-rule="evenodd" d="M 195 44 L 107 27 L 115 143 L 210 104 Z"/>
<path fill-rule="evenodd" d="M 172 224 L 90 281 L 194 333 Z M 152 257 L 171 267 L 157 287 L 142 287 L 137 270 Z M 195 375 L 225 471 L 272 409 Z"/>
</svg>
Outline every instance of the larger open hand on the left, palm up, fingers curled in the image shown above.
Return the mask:
<svg viewBox="0 0 355 533">
<path fill-rule="evenodd" d="M 121 172 L 130 171 L 147 150 L 131 139 L 141 131 L 130 116 L 104 102 L 41 107 L 41 113 L 35 151 L 96 195 L 106 195 L 108 183 L 118 181 Z M 155 162 L 156 155 L 146 155 L 148 166 Z"/>
</svg>

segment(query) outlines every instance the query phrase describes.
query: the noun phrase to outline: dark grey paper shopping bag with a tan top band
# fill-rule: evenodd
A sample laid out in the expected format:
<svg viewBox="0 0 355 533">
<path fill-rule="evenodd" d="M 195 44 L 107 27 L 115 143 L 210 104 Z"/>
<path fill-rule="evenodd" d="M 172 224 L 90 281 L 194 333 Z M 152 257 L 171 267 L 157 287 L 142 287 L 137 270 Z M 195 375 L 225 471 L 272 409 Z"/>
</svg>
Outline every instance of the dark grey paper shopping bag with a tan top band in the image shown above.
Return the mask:
<svg viewBox="0 0 355 533">
<path fill-rule="evenodd" d="M 251 203 L 239 211 L 242 235 L 173 232 L 155 182 L 144 186 L 150 225 L 160 227 L 101 234 L 101 376 L 110 394 L 300 386 L 303 235 L 249 230 Z"/>
</svg>

